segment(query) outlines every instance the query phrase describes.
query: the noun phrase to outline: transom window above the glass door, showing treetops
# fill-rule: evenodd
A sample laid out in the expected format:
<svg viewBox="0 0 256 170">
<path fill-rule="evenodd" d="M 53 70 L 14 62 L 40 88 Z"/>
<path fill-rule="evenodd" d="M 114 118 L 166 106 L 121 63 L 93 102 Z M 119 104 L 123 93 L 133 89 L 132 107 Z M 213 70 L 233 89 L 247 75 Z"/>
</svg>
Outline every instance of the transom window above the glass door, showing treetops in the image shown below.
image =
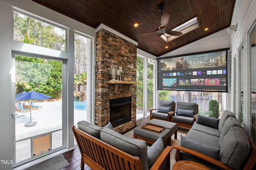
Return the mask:
<svg viewBox="0 0 256 170">
<path fill-rule="evenodd" d="M 66 30 L 14 11 L 14 41 L 66 51 Z"/>
</svg>

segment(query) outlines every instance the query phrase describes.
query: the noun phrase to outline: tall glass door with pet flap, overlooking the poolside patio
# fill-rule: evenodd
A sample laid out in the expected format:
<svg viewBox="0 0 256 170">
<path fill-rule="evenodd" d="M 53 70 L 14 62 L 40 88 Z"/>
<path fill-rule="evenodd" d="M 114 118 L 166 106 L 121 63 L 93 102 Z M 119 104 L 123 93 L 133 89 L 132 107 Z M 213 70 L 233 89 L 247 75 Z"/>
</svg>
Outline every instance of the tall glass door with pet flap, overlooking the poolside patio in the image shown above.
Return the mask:
<svg viewBox="0 0 256 170">
<path fill-rule="evenodd" d="M 66 147 L 62 114 L 63 61 L 13 53 L 14 167 Z M 14 60 L 14 59 L 13 59 Z"/>
</svg>

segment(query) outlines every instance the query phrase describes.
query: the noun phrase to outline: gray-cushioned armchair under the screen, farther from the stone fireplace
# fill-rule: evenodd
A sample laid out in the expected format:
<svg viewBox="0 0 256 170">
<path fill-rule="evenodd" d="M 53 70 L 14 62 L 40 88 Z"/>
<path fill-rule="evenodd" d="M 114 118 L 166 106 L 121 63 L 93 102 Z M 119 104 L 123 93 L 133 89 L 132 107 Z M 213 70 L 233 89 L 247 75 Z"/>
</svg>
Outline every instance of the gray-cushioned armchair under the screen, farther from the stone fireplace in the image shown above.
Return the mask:
<svg viewBox="0 0 256 170">
<path fill-rule="evenodd" d="M 198 113 L 198 104 L 177 102 L 177 111 L 170 114 L 170 121 L 177 126 L 191 128 Z"/>
</svg>

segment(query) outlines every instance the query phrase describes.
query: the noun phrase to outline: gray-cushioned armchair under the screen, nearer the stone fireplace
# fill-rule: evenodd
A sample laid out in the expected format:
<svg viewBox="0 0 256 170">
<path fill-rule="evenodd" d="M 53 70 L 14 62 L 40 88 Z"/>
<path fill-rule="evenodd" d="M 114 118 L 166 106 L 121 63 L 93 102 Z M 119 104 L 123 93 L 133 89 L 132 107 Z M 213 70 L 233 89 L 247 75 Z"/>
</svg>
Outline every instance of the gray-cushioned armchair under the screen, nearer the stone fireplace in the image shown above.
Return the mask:
<svg viewBox="0 0 256 170">
<path fill-rule="evenodd" d="M 157 109 L 151 109 L 150 111 L 150 120 L 151 119 L 160 119 L 165 121 L 170 121 L 171 113 L 175 112 L 176 103 L 174 101 L 158 100 Z M 157 110 L 156 112 L 153 112 Z"/>
</svg>

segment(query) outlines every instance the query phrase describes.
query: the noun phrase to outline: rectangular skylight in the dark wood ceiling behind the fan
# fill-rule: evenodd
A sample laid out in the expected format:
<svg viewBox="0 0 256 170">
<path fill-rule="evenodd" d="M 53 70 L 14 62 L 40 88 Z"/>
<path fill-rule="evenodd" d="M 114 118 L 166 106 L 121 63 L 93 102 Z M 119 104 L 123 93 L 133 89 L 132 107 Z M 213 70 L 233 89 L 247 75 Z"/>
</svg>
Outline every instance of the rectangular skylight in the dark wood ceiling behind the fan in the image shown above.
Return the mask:
<svg viewBox="0 0 256 170">
<path fill-rule="evenodd" d="M 181 25 L 179 25 L 178 27 L 175 27 L 174 29 L 172 29 L 172 31 L 178 31 L 178 32 L 182 32 L 184 34 L 196 29 L 199 27 L 197 18 L 192 18 L 191 20 L 188 20 L 184 23 L 182 23 Z M 172 41 L 173 39 L 176 39 L 179 36 L 174 36 L 174 35 L 169 35 L 169 34 L 162 34 L 161 35 L 162 39 L 164 39 L 166 42 Z"/>
</svg>

